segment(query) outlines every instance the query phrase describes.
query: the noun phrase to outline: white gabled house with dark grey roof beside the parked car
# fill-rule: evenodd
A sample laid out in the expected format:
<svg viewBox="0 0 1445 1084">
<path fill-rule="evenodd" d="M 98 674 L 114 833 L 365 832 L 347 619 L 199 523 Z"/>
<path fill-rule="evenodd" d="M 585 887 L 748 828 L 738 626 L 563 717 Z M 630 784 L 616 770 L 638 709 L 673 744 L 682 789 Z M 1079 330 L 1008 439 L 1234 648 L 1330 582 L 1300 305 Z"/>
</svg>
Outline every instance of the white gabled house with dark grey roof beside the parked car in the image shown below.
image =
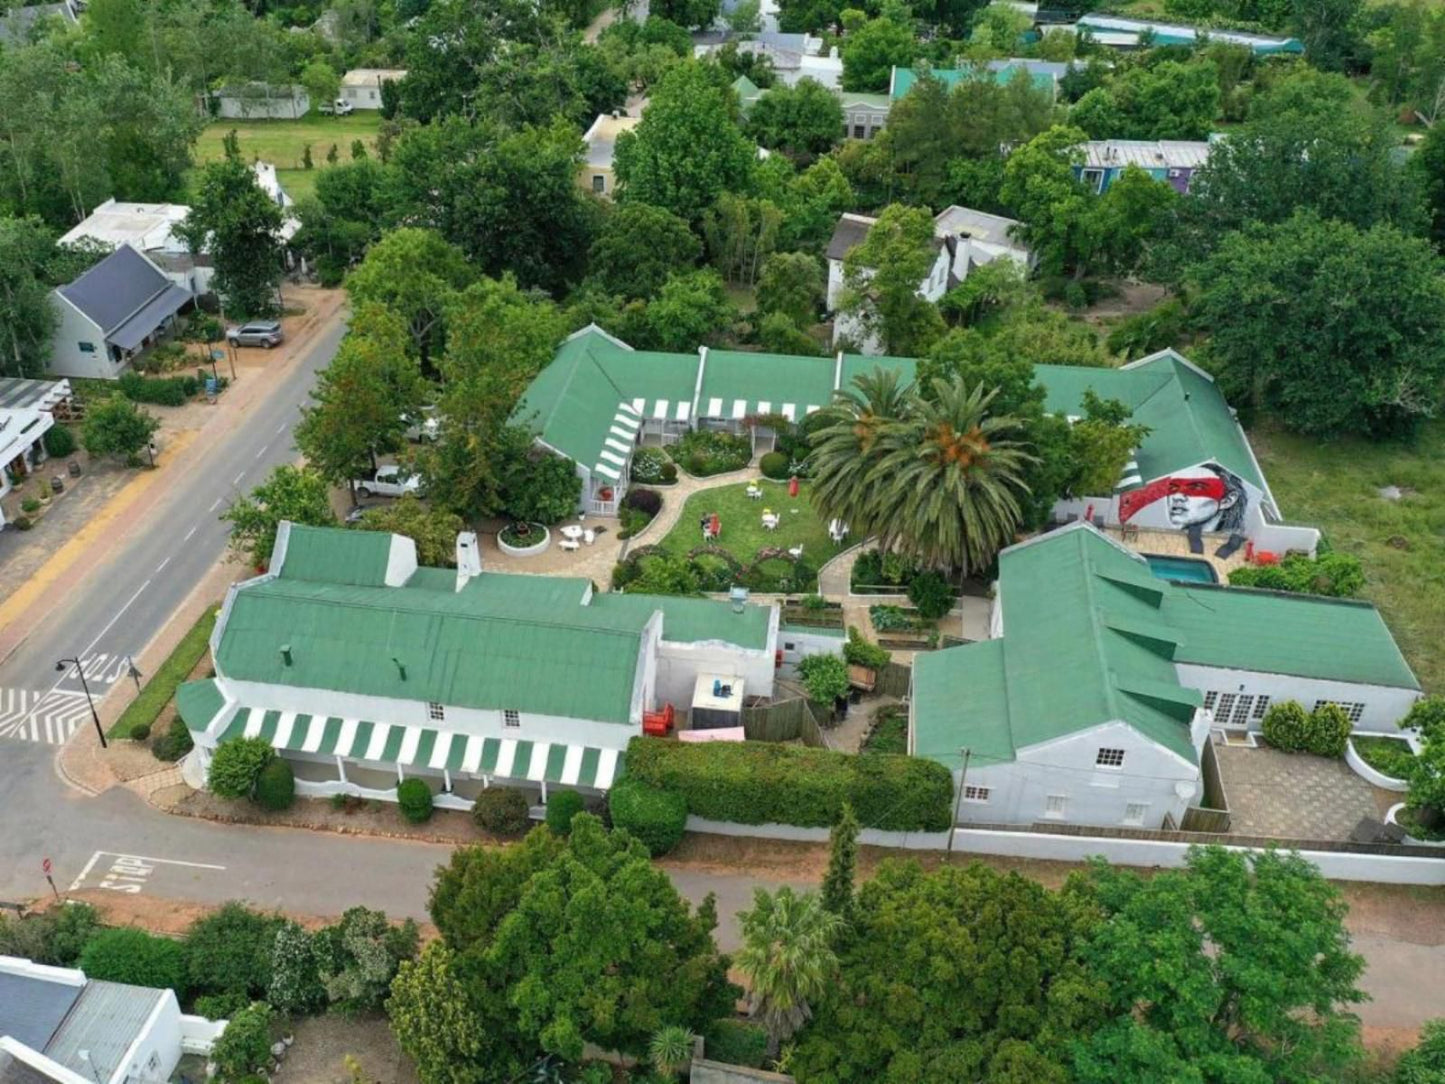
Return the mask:
<svg viewBox="0 0 1445 1084">
<path fill-rule="evenodd" d="M 51 371 L 113 380 L 192 301 L 143 254 L 123 244 L 75 282 L 51 292 L 59 322 Z"/>
</svg>

